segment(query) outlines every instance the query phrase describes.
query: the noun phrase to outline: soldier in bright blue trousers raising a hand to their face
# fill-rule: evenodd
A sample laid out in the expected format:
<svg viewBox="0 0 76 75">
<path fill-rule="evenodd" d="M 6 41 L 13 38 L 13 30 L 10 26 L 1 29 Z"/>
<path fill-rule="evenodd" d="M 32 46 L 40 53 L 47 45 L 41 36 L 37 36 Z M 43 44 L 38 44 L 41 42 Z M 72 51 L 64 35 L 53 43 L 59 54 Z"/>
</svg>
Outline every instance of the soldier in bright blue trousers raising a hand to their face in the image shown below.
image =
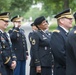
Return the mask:
<svg viewBox="0 0 76 75">
<path fill-rule="evenodd" d="M 26 59 L 28 56 L 27 43 L 25 32 L 20 28 L 22 17 L 19 15 L 11 19 L 14 27 L 9 31 L 13 50 L 17 56 L 17 66 L 14 70 L 14 75 L 25 75 Z"/>
</svg>

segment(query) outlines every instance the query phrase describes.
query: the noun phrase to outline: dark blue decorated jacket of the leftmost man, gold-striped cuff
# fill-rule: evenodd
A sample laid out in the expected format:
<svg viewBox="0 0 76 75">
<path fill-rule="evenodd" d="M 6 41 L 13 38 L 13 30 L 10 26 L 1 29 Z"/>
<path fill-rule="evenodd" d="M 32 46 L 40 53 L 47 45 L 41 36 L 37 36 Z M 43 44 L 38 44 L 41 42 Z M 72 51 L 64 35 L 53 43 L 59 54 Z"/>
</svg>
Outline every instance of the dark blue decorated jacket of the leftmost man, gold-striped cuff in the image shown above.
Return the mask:
<svg viewBox="0 0 76 75">
<path fill-rule="evenodd" d="M 10 37 L 6 33 L 2 33 L 1 31 L 0 31 L 0 53 L 3 60 L 3 64 L 7 71 L 7 75 L 9 75 L 9 72 L 11 71 L 12 61 L 16 61 L 16 56 L 14 54 L 14 51 L 12 50 Z M 11 72 L 13 72 L 13 70 Z"/>
</svg>

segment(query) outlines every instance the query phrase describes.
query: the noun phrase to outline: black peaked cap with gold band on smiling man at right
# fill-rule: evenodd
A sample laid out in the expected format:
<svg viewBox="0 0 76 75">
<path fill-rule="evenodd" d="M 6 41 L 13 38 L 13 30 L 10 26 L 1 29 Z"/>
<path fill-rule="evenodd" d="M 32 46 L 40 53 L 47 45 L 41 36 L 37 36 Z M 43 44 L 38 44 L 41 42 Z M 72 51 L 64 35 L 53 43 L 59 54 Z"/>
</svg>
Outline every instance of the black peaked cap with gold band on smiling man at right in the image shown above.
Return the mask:
<svg viewBox="0 0 76 75">
<path fill-rule="evenodd" d="M 57 18 L 57 19 L 60 19 L 60 18 L 63 18 L 63 17 L 66 17 L 66 18 L 73 18 L 73 15 L 71 13 L 71 9 L 68 8 L 60 13 L 58 13 L 57 15 L 54 16 L 54 18 Z"/>
</svg>

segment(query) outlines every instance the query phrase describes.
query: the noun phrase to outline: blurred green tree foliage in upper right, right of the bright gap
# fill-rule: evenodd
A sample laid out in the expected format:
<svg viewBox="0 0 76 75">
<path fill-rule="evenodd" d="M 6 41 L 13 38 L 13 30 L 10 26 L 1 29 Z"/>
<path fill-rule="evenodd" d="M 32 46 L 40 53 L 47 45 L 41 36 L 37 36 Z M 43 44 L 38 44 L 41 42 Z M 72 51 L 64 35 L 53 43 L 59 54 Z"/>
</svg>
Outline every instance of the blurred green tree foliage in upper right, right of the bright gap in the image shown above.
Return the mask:
<svg viewBox="0 0 76 75">
<path fill-rule="evenodd" d="M 56 14 L 64 9 L 71 8 L 76 10 L 75 0 L 35 0 L 35 3 L 42 2 L 44 9 L 47 11 L 47 15 Z"/>
</svg>

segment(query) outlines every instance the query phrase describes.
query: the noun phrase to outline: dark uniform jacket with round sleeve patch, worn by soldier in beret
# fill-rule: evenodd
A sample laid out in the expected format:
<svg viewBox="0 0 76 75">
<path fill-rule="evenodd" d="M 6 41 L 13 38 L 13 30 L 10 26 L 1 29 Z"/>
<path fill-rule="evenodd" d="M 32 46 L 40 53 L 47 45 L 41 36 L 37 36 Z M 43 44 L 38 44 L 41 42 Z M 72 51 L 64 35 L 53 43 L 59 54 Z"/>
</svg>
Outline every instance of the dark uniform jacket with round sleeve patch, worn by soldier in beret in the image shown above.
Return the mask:
<svg viewBox="0 0 76 75">
<path fill-rule="evenodd" d="M 41 30 L 31 33 L 31 62 L 30 66 L 51 67 L 52 54 L 50 47 L 51 34 L 48 36 Z"/>
</svg>

